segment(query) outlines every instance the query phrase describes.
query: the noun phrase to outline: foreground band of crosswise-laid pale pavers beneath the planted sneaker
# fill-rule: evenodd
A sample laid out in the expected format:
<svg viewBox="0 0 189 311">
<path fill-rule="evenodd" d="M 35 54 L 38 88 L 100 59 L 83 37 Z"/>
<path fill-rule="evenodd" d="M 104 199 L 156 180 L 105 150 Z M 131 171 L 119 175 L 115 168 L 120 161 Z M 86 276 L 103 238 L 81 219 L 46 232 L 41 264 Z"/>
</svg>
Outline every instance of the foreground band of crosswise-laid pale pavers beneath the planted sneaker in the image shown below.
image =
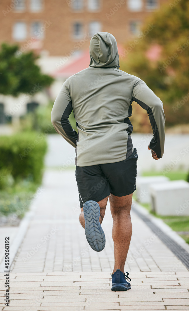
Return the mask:
<svg viewBox="0 0 189 311">
<path fill-rule="evenodd" d="M 25 276 L 12 272 L 11 303 L 3 310 L 188 310 L 189 282 L 185 286 L 179 282 L 183 273 L 175 272 L 170 276 L 174 286 L 168 281 L 166 291 L 158 281 L 166 274 L 153 273 L 133 272 L 131 290 L 111 292 L 110 272 L 91 272 L 90 275 L 84 272 L 59 272 L 58 275 L 57 272 L 46 272 L 42 277 L 37 272 L 25 273 Z M 62 281 L 56 281 L 57 276 Z M 187 281 L 188 276 L 189 272 L 186 272 Z M 23 278 L 27 281 L 24 282 Z M 1 297 L 3 294 L 1 290 Z M 0 299 L 0 308 L 3 306 L 4 301 Z"/>
</svg>

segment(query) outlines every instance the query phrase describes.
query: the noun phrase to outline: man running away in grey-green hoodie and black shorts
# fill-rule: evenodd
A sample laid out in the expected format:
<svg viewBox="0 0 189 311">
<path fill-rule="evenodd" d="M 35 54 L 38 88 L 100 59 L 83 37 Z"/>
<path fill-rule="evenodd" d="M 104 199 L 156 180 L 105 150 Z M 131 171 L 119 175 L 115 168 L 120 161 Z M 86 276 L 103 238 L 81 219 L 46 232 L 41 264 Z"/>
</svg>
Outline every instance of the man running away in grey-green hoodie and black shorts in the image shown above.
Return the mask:
<svg viewBox="0 0 189 311">
<path fill-rule="evenodd" d="M 130 289 L 124 265 L 132 234 L 130 209 L 136 188 L 137 150 L 133 149 L 129 120 L 132 102 L 149 115 L 153 138 L 148 149 L 160 159 L 164 153 L 164 110 L 161 100 L 138 77 L 119 70 L 117 43 L 107 32 L 90 41 L 90 65 L 69 77 L 52 109 L 52 124 L 76 149 L 76 181 L 81 214 L 79 220 L 89 245 L 105 247 L 101 228 L 109 198 L 113 217 L 115 266 L 112 290 Z M 68 120 L 72 110 L 78 134 Z M 129 278 L 130 280 L 130 278 Z"/>
</svg>

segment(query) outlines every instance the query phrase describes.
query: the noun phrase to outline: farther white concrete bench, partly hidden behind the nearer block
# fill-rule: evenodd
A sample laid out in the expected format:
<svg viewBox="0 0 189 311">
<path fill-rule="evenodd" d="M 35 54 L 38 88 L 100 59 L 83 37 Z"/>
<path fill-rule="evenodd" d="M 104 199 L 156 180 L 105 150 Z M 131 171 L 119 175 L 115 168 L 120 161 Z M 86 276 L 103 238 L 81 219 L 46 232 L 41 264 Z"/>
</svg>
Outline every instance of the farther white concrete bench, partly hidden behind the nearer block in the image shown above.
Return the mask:
<svg viewBox="0 0 189 311">
<path fill-rule="evenodd" d="M 149 186 L 152 184 L 169 181 L 165 176 L 137 176 L 136 195 L 137 201 L 141 203 L 150 203 Z"/>
</svg>

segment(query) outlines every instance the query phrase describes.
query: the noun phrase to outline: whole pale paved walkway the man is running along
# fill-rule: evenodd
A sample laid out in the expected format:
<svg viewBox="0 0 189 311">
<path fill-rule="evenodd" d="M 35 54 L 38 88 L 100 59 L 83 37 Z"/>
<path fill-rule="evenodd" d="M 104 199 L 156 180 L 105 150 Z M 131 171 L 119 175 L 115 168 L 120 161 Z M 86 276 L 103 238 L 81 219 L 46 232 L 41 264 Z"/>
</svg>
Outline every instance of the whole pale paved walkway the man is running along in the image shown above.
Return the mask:
<svg viewBox="0 0 189 311">
<path fill-rule="evenodd" d="M 133 234 L 125 271 L 126 292 L 111 292 L 112 218 L 102 223 L 106 247 L 97 253 L 79 224 L 74 170 L 46 170 L 25 238 L 11 266 L 10 306 L 0 310 L 189 310 L 189 271 L 132 212 Z"/>
</svg>

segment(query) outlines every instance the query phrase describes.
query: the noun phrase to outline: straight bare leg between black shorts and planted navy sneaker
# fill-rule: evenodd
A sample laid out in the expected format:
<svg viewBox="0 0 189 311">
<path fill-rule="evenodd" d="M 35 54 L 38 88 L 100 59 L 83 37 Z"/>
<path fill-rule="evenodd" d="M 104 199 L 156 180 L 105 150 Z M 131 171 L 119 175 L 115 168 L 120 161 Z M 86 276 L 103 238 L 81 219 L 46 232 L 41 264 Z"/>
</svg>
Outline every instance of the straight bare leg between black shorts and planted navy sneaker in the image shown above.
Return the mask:
<svg viewBox="0 0 189 311">
<path fill-rule="evenodd" d="M 114 241 L 114 270 L 120 269 L 124 273 L 125 261 L 130 245 L 132 224 L 131 224 L 131 204 L 132 194 L 124 197 L 116 197 L 110 194 L 110 210 L 113 217 L 112 238 Z"/>
</svg>

